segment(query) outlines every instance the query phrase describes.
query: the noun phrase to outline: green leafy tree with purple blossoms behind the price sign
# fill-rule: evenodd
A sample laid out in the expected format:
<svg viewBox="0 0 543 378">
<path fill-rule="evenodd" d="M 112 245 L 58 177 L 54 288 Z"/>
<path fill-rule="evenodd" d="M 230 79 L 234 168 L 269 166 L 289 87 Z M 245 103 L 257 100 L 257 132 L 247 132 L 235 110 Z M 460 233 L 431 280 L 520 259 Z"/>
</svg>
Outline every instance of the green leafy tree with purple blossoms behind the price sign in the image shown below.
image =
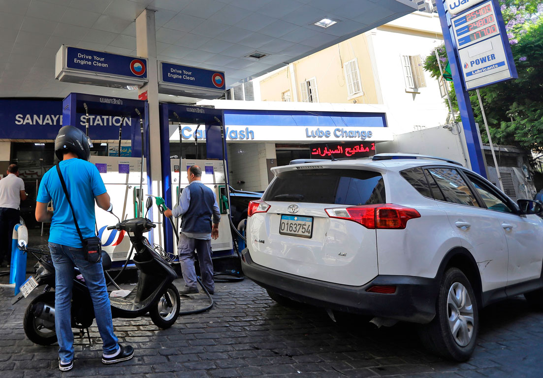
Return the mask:
<svg viewBox="0 0 543 378">
<path fill-rule="evenodd" d="M 541 0 L 506 0 L 501 4 L 519 78 L 479 89 L 490 134 L 497 144 L 543 152 L 543 4 Z M 438 55 L 444 68 L 444 46 L 438 48 Z M 440 76 L 437 61 L 432 51 L 424 62 L 424 68 L 435 78 Z M 452 83 L 451 86 L 451 100 L 458 114 Z M 470 91 L 470 100 L 475 120 L 482 127 L 483 141 L 487 141 L 474 90 Z"/>
</svg>

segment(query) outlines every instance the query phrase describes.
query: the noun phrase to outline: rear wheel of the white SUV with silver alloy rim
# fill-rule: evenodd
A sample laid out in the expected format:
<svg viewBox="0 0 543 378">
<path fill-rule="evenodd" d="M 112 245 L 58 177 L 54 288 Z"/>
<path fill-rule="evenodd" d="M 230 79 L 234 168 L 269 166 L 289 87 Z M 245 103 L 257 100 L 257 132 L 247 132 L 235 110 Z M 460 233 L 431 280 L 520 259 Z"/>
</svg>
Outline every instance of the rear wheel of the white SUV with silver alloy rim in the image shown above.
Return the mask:
<svg viewBox="0 0 543 378">
<path fill-rule="evenodd" d="M 466 361 L 477 344 L 479 311 L 471 283 L 458 268 L 445 271 L 435 318 L 421 328 L 426 348 L 454 361 Z"/>
</svg>

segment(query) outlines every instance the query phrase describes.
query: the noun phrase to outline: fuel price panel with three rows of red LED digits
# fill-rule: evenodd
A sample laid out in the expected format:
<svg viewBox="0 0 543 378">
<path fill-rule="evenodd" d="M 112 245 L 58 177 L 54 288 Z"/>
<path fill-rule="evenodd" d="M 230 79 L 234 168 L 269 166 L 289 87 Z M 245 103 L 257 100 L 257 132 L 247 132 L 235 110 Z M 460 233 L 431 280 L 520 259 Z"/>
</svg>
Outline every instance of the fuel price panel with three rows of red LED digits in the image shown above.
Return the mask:
<svg viewBox="0 0 543 378">
<path fill-rule="evenodd" d="M 479 5 L 471 12 L 454 18 L 452 26 L 458 48 L 468 47 L 500 34 L 491 2 Z"/>
</svg>

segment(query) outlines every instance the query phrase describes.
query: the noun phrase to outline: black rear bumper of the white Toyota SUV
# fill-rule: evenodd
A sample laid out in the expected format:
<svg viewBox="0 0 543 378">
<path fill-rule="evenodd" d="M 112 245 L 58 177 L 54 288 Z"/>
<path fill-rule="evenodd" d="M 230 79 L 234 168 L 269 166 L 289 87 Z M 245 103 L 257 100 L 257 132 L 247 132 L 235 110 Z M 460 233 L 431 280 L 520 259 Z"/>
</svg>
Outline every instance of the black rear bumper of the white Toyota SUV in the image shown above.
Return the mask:
<svg viewBox="0 0 543 378">
<path fill-rule="evenodd" d="M 378 275 L 363 286 L 350 286 L 263 267 L 252 261 L 247 248 L 242 255 L 245 276 L 264 289 L 298 302 L 413 323 L 429 323 L 435 316 L 439 285 L 434 278 Z M 378 294 L 366 291 L 376 285 L 396 286 L 396 292 Z"/>
</svg>

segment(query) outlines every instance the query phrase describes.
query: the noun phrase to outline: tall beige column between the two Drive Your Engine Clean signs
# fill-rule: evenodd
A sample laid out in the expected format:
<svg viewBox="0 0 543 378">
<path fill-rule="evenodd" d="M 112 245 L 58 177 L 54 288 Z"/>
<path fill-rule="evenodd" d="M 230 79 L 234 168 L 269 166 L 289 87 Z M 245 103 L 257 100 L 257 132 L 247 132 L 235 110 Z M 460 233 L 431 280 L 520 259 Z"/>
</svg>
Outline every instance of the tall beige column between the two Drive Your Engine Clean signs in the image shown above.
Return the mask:
<svg viewBox="0 0 543 378">
<path fill-rule="evenodd" d="M 160 116 L 159 116 L 159 82 L 156 65 L 156 30 L 155 11 L 146 9 L 136 18 L 136 53 L 147 58 L 147 77 L 149 82 L 139 89 L 138 93 L 147 91 L 149 102 L 149 153 L 146 156 L 150 160 L 150 185 L 153 195 L 162 196 L 162 171 L 160 153 Z M 145 203 L 145 198 L 143 203 Z M 153 220 L 162 221 L 156 206 L 153 206 Z M 162 227 L 154 229 L 154 243 L 164 245 Z"/>
</svg>

